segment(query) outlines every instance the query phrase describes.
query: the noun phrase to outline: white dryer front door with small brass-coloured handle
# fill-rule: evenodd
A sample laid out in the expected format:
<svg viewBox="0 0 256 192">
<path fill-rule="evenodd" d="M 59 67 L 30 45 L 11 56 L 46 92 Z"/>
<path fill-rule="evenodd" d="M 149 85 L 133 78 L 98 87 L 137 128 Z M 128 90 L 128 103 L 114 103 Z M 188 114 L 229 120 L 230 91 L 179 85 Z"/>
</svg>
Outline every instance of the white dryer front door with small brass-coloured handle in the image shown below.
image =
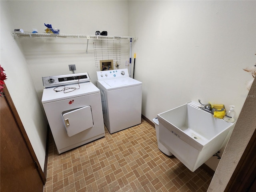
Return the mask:
<svg viewBox="0 0 256 192">
<path fill-rule="evenodd" d="M 62 117 L 69 137 L 93 126 L 91 106 L 63 112 Z"/>
</svg>

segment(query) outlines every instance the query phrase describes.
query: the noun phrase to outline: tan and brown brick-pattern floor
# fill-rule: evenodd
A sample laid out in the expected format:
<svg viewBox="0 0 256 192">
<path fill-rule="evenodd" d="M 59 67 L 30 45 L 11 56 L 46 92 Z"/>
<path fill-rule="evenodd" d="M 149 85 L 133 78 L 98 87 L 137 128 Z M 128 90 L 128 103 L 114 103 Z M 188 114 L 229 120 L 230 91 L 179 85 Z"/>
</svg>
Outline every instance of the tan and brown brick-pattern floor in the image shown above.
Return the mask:
<svg viewBox="0 0 256 192">
<path fill-rule="evenodd" d="M 212 179 L 163 154 L 144 119 L 114 134 L 105 128 L 104 138 L 63 154 L 49 140 L 44 192 L 206 192 Z"/>
</svg>

